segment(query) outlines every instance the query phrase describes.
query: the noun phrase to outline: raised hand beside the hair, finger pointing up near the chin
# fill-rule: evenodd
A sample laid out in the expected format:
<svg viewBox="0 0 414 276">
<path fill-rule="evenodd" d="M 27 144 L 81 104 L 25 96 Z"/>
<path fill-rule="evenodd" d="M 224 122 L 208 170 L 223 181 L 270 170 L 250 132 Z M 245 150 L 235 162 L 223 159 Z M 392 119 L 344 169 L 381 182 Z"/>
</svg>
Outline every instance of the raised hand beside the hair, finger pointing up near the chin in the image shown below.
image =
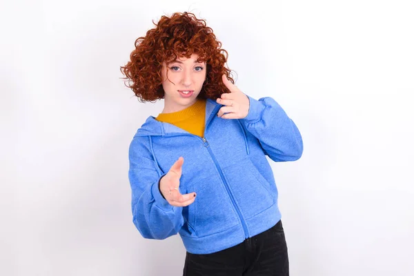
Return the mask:
<svg viewBox="0 0 414 276">
<path fill-rule="evenodd" d="M 223 119 L 244 119 L 248 115 L 250 100 L 244 92 L 227 79 L 226 75 L 221 78 L 230 93 L 223 93 L 217 98 L 217 103 L 224 105 L 220 108 L 217 116 Z"/>
</svg>

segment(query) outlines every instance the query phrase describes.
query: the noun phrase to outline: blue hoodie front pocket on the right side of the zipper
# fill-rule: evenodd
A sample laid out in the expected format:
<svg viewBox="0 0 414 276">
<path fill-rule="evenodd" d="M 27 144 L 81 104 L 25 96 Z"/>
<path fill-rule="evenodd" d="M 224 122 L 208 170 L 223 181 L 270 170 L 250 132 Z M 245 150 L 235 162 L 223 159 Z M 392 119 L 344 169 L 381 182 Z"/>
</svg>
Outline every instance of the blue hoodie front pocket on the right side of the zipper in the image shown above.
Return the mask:
<svg viewBox="0 0 414 276">
<path fill-rule="evenodd" d="M 276 203 L 273 189 L 250 157 L 224 168 L 223 175 L 245 219 L 254 217 Z"/>
</svg>

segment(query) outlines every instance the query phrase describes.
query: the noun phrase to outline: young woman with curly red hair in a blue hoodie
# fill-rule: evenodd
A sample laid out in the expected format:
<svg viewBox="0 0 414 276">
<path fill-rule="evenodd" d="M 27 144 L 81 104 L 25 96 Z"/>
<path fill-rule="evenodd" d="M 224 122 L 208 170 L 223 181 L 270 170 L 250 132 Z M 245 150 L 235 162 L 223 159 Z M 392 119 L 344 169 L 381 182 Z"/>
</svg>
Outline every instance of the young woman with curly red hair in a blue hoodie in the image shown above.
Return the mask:
<svg viewBox="0 0 414 276">
<path fill-rule="evenodd" d="M 288 275 L 273 161 L 302 156 L 302 137 L 271 97 L 234 85 L 206 21 L 163 16 L 121 72 L 139 101 L 164 99 L 129 149 L 133 222 L 148 239 L 177 233 L 184 275 Z"/>
</svg>

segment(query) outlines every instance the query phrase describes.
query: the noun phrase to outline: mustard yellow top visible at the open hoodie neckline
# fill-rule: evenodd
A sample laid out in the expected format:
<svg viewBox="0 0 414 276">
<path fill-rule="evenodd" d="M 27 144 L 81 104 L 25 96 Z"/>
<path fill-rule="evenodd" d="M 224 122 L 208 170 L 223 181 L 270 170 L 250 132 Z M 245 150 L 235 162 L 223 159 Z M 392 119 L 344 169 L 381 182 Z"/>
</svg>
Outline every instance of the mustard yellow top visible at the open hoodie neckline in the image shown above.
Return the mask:
<svg viewBox="0 0 414 276">
<path fill-rule="evenodd" d="M 170 113 L 159 113 L 157 121 L 173 124 L 187 130 L 193 135 L 204 137 L 204 122 L 206 120 L 206 100 L 197 99 L 193 106 Z"/>
</svg>

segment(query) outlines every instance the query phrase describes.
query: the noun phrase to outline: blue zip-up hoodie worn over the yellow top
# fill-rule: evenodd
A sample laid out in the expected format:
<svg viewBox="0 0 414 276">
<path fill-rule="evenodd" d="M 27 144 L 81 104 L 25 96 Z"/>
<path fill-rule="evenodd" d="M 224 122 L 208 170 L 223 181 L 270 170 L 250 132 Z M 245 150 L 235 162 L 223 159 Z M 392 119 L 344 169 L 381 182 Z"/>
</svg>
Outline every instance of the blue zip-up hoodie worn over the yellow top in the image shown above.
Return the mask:
<svg viewBox="0 0 414 276">
<path fill-rule="evenodd" d="M 244 119 L 217 117 L 221 104 L 206 101 L 204 137 L 150 116 L 129 148 L 132 215 L 139 233 L 165 239 L 179 233 L 189 253 L 208 254 L 235 246 L 281 218 L 277 188 L 266 159 L 302 156 L 295 123 L 271 97 L 250 101 Z M 186 207 L 171 206 L 159 180 L 182 156 L 181 194 L 197 193 Z"/>
</svg>

